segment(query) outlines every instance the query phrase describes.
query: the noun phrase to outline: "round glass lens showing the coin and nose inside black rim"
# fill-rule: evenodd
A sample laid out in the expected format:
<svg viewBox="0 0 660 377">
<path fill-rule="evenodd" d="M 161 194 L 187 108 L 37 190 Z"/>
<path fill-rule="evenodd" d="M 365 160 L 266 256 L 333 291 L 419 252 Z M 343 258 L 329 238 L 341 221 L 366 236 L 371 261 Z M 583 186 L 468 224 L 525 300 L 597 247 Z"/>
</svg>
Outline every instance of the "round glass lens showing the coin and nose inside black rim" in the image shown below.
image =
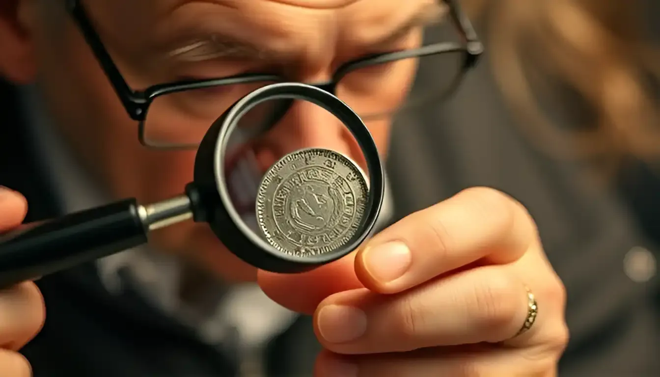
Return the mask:
<svg viewBox="0 0 660 377">
<path fill-rule="evenodd" d="M 300 124 L 305 119 L 316 120 L 315 128 L 301 129 L 310 127 Z M 306 137 L 333 127 L 340 131 L 336 140 Z M 331 149 L 348 150 L 350 138 L 317 104 L 291 99 L 257 104 L 228 139 L 224 178 L 234 209 L 251 231 L 289 256 L 339 250 L 355 236 L 368 196 L 364 171 Z M 362 154 L 358 158 L 364 160 Z"/>
</svg>

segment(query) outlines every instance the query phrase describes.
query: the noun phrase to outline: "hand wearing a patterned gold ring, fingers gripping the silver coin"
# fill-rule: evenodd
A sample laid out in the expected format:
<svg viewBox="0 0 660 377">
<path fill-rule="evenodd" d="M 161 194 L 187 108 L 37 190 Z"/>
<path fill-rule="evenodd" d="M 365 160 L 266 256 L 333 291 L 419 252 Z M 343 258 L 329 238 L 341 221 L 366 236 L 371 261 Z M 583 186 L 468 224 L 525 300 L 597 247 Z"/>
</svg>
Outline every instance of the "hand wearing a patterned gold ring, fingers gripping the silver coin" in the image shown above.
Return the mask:
<svg viewBox="0 0 660 377">
<path fill-rule="evenodd" d="M 314 315 L 317 377 L 554 376 L 568 339 L 536 226 L 494 189 L 413 213 L 314 271 L 259 271 L 259 285 Z"/>
</svg>

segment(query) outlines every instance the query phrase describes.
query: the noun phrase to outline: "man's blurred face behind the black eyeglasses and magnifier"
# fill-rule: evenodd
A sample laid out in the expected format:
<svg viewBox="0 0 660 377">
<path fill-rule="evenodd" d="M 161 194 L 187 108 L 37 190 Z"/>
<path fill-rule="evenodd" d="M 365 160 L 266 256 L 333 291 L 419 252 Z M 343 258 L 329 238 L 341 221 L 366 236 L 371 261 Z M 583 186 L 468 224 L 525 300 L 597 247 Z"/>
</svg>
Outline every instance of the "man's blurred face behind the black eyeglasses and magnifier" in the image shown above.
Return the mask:
<svg viewBox="0 0 660 377">
<path fill-rule="evenodd" d="M 158 151 L 139 144 L 137 123 L 127 116 L 64 2 L 9 3 L 18 5 L 18 17 L 15 25 L 8 22 L 11 27 L 0 28 L 0 35 L 23 50 L 0 67 L 8 77 L 40 85 L 49 115 L 94 179 L 113 197 L 137 197 L 141 203 L 182 193 L 193 178 L 195 151 Z M 327 81 L 352 59 L 418 46 L 421 27 L 391 34 L 402 25 L 423 22 L 420 15 L 437 7 L 435 0 L 90 0 L 84 6 L 119 71 L 135 89 L 253 72 L 304 83 Z M 236 44 L 236 39 L 249 47 Z M 360 112 L 379 112 L 383 104 L 395 107 L 405 99 L 414 71 L 413 61 L 374 67 L 356 77 L 344 94 Z M 218 106 L 226 108 L 235 97 L 226 88 L 178 94 L 178 115 L 162 117 L 161 131 L 182 140 L 203 133 L 199 130 L 204 127 L 190 126 L 199 123 L 197 114 L 213 115 L 203 122 L 207 127 L 224 110 L 218 112 Z M 391 119 L 366 123 L 384 157 Z M 339 151 L 364 168 L 360 148 L 338 120 L 313 104 L 296 102 L 274 127 L 230 158 L 239 166 L 229 173 L 230 189 L 249 191 L 244 178 L 236 178 L 247 162 L 258 176 L 282 155 L 304 147 Z M 254 276 L 206 226 L 180 224 L 154 234 L 152 242 L 165 252 L 196 256 L 228 279 Z"/>
</svg>

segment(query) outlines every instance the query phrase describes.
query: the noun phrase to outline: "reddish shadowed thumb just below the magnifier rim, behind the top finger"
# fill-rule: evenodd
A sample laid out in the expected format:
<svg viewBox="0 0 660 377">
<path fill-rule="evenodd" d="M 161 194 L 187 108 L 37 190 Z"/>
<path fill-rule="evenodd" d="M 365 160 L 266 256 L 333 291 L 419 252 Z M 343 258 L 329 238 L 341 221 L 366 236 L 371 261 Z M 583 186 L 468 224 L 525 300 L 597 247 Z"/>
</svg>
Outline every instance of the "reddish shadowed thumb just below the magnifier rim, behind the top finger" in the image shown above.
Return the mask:
<svg viewBox="0 0 660 377">
<path fill-rule="evenodd" d="M 355 275 L 355 252 L 314 269 L 296 274 L 259 271 L 261 290 L 285 308 L 302 314 L 313 314 L 318 304 L 337 292 L 361 288 Z"/>
</svg>

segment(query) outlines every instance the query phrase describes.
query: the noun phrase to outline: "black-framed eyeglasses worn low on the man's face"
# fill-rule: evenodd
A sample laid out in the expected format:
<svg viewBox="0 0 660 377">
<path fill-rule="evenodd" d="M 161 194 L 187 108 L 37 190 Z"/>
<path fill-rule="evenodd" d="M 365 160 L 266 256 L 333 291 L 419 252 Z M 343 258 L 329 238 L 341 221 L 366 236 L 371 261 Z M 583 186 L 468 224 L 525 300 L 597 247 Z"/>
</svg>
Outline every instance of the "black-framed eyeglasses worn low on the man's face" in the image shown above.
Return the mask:
<svg viewBox="0 0 660 377">
<path fill-rule="evenodd" d="M 438 1 L 449 10 L 450 32 L 457 34 L 457 41 L 447 42 L 446 30 L 429 29 L 420 48 L 378 53 L 348 61 L 335 70 L 330 81 L 310 85 L 339 97 L 364 121 L 418 108 L 431 101 L 440 103 L 446 100 L 460 85 L 465 73 L 475 65 L 483 46 L 457 1 Z M 278 75 L 249 73 L 218 79 L 177 81 L 135 90 L 117 69 L 81 0 L 67 0 L 67 9 L 121 104 L 130 118 L 138 122 L 138 138 L 145 147 L 196 148 L 211 123 L 234 102 L 261 86 L 288 81 Z M 397 104 L 386 101 L 373 103 L 374 100 L 370 100 L 365 93 L 379 93 L 387 89 L 379 87 L 389 85 L 383 77 L 404 65 L 416 69 L 417 77 L 423 78 L 414 83 L 408 100 L 401 104 L 399 101 Z M 242 125 L 263 132 L 284 117 L 294 100 L 271 102 L 251 110 L 249 116 L 241 120 Z"/>
</svg>

